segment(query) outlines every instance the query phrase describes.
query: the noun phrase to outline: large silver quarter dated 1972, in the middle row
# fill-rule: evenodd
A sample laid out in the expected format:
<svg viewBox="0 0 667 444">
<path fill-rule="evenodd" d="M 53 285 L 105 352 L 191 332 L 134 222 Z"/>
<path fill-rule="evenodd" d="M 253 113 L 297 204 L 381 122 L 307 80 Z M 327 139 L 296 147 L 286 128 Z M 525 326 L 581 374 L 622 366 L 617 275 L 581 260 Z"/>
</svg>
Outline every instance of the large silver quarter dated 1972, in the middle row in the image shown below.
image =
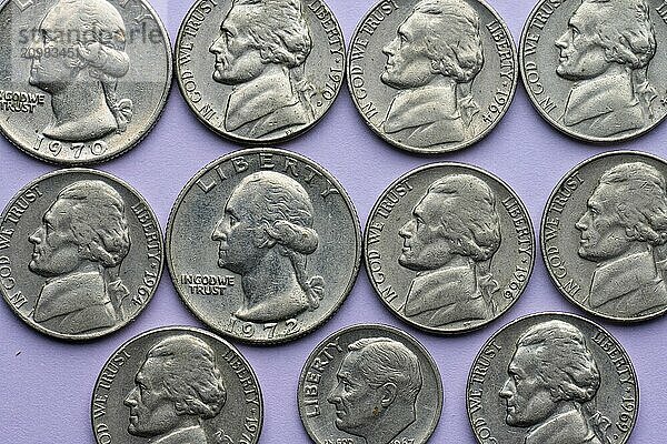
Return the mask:
<svg viewBox="0 0 667 444">
<path fill-rule="evenodd" d="M 359 271 L 361 235 L 347 193 L 320 165 L 250 149 L 188 182 L 167 249 L 173 284 L 195 315 L 221 334 L 271 344 L 336 312 Z"/>
</svg>

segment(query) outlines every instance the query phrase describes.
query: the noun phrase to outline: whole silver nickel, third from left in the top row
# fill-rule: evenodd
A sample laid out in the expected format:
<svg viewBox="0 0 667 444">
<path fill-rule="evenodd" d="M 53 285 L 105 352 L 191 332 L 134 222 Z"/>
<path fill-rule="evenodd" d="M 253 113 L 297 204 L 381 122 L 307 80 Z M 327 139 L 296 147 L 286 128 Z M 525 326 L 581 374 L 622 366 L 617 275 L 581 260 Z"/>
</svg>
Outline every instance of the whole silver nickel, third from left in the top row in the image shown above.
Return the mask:
<svg viewBox="0 0 667 444">
<path fill-rule="evenodd" d="M 357 110 L 382 139 L 422 153 L 478 142 L 514 98 L 517 53 L 502 19 L 480 0 L 382 0 L 348 53 Z"/>
</svg>

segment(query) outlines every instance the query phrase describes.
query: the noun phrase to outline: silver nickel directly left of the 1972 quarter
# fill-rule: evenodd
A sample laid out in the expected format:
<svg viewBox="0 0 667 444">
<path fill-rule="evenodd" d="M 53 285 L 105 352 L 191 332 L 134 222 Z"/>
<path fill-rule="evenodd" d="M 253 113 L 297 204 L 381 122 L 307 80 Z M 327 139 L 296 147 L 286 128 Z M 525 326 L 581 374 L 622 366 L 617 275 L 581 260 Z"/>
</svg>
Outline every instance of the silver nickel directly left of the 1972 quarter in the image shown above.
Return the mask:
<svg viewBox="0 0 667 444">
<path fill-rule="evenodd" d="M 41 333 L 90 340 L 135 320 L 163 265 L 160 224 L 130 185 L 59 170 L 26 185 L 0 216 L 0 291 Z"/>
</svg>

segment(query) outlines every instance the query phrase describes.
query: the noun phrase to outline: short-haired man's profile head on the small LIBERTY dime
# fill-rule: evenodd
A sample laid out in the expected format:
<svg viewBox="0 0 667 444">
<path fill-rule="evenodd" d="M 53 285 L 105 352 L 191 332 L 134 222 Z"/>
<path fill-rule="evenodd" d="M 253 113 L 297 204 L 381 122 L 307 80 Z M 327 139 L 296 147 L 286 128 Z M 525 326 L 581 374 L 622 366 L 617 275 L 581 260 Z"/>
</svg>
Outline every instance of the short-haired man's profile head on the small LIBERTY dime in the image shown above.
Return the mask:
<svg viewBox="0 0 667 444">
<path fill-rule="evenodd" d="M 387 444 L 412 424 L 422 375 L 412 351 L 388 337 L 348 345 L 327 401 L 336 406 L 336 428 L 367 444 Z"/>
</svg>

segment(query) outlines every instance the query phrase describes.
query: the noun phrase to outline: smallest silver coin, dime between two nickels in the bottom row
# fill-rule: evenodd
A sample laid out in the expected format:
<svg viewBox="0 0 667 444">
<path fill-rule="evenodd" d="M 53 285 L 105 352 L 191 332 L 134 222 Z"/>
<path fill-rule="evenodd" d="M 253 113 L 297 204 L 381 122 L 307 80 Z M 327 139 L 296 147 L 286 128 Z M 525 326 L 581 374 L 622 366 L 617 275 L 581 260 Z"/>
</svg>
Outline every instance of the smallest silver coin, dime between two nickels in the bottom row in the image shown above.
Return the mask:
<svg viewBox="0 0 667 444">
<path fill-rule="evenodd" d="M 412 336 L 386 325 L 355 325 L 312 351 L 297 402 L 317 444 L 422 444 L 440 420 L 442 383 Z"/>
</svg>

